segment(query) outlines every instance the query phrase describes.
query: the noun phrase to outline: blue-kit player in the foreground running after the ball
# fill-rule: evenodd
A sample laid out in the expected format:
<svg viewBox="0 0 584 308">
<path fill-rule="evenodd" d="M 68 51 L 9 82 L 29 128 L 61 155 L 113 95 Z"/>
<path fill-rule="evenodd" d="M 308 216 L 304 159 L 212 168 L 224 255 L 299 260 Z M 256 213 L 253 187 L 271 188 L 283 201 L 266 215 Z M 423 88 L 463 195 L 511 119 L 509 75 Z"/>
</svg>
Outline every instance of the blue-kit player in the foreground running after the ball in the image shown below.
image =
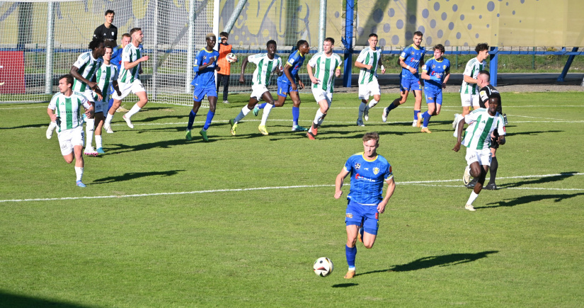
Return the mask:
<svg viewBox="0 0 584 308">
<path fill-rule="evenodd" d="M 363 136 L 365 152 L 350 156 L 335 181 L 335 198 L 343 195 L 343 181 L 351 174 L 351 184 L 347 195 L 348 205 L 345 213 L 347 229 L 347 245 L 345 255 L 349 270 L 346 279 L 355 277 L 355 256 L 357 255 L 357 236 L 365 248 L 370 249 L 375 243 L 379 229 L 379 214 L 385 207 L 391 195 L 394 194 L 396 183 L 391 165 L 383 156 L 377 154 L 379 135 L 377 132 L 367 132 Z M 383 183 L 387 183 L 387 191 L 383 197 Z"/>
</svg>

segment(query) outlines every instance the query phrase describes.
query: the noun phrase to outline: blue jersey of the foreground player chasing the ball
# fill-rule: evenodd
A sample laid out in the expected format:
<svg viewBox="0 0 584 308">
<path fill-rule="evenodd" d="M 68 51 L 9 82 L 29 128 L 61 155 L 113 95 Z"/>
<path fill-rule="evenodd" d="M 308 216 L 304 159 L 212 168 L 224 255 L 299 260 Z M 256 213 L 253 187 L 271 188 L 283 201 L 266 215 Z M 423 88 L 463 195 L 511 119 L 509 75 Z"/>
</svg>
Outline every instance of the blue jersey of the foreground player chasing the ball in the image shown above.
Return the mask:
<svg viewBox="0 0 584 308">
<path fill-rule="evenodd" d="M 377 205 L 383 200 L 383 183 L 393 178 L 394 173 L 391 173 L 391 165 L 384 156 L 377 155 L 368 161 L 363 154 L 354 154 L 345 163 L 345 171 L 351 174 L 347 199 L 362 205 Z"/>
</svg>

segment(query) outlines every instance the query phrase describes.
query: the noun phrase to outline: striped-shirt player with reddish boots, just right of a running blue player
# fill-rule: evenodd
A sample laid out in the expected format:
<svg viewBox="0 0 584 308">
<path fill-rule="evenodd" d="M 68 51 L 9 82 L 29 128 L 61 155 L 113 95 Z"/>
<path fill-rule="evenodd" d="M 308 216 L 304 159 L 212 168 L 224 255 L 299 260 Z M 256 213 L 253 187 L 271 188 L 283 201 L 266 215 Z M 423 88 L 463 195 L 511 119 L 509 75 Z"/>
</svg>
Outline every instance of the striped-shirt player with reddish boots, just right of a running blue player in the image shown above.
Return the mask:
<svg viewBox="0 0 584 308">
<path fill-rule="evenodd" d="M 343 61 L 333 53 L 334 45 L 335 40 L 333 38 L 325 38 L 322 46 L 323 51 L 314 55 L 307 65 L 308 76 L 310 76 L 310 81 L 312 82 L 312 95 L 314 95 L 316 103 L 320 106 L 316 110 L 314 121 L 307 132 L 307 137 L 311 140 L 314 140 L 319 126 L 326 116 L 326 111 L 331 108 L 335 77 L 340 76 L 340 64 Z M 313 67 L 316 68 L 314 75 L 312 74 Z"/>
</svg>

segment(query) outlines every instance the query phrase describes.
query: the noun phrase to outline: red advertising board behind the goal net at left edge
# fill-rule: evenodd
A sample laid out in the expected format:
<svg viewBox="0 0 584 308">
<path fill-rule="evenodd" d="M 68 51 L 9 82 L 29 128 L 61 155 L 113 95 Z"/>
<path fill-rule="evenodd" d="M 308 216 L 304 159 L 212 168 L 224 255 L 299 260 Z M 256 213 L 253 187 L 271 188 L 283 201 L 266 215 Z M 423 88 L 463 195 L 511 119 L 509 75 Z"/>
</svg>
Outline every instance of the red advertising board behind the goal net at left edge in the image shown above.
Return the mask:
<svg viewBox="0 0 584 308">
<path fill-rule="evenodd" d="M 24 52 L 0 51 L 0 93 L 23 94 Z"/>
</svg>

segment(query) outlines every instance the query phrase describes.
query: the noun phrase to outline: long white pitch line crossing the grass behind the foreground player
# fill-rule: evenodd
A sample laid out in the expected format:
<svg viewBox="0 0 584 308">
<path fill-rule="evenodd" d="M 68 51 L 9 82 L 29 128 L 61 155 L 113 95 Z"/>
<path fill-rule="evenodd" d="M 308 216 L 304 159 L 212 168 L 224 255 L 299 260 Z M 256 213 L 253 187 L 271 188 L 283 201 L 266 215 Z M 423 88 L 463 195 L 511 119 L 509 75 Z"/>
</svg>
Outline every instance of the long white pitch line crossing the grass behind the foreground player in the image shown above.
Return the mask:
<svg viewBox="0 0 584 308">
<path fill-rule="evenodd" d="M 533 175 L 533 176 L 507 176 L 498 178 L 499 180 L 504 180 L 508 178 L 549 178 L 552 176 L 583 176 L 584 173 L 556 173 L 556 174 L 543 174 L 543 175 Z M 457 180 L 437 180 L 437 181 L 409 181 L 409 182 L 397 182 L 398 185 L 418 185 L 418 186 L 435 186 L 435 187 L 452 187 L 452 188 L 462 188 L 464 186 L 440 186 L 429 183 L 445 183 L 445 182 L 457 182 Z M 346 185 L 348 186 L 348 185 Z M 251 191 L 251 190 L 270 190 L 270 189 L 292 189 L 292 188 L 316 188 L 316 187 L 334 187 L 333 184 L 328 185 L 297 185 L 297 186 L 273 186 L 273 187 L 256 187 L 256 188 L 231 188 L 231 189 L 214 189 L 214 190 L 195 190 L 195 191 L 179 191 L 175 193 L 139 193 L 133 195 L 96 195 L 90 197 L 65 197 L 65 198 L 35 198 L 35 199 L 12 199 L 12 200 L 0 200 L 0 203 L 8 202 L 30 202 L 30 201 L 58 201 L 58 200 L 81 200 L 81 199 L 108 199 L 108 198 L 132 198 L 132 197 L 154 197 L 157 195 L 193 195 L 195 193 L 231 193 L 236 191 Z M 531 189 L 531 190 L 584 190 L 584 188 L 500 188 L 500 189 Z"/>
</svg>

